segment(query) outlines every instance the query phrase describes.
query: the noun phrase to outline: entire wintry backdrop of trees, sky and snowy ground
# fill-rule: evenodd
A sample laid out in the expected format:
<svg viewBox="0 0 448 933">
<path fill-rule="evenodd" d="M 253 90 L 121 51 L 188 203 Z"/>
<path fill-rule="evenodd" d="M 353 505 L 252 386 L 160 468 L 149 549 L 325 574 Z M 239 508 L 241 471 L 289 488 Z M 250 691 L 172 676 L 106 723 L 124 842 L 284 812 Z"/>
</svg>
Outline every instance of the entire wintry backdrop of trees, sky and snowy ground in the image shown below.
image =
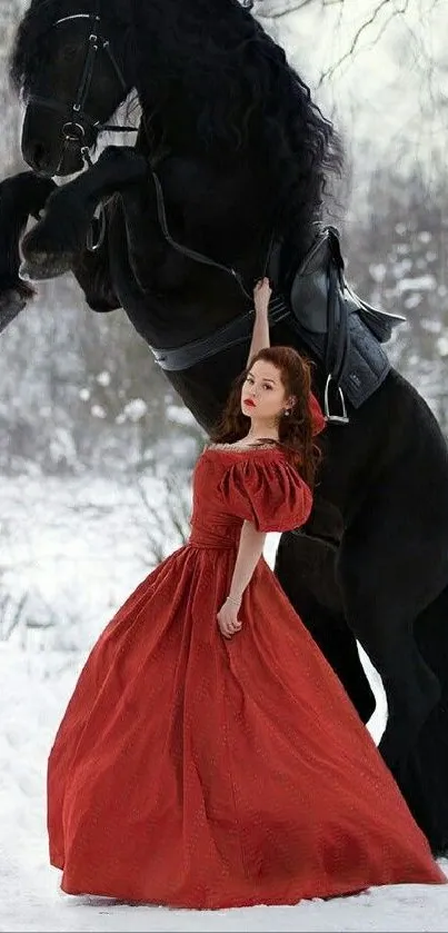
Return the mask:
<svg viewBox="0 0 448 933">
<path fill-rule="evenodd" d="M 26 168 L 8 58 L 27 6 L 0 0 L 1 178 Z M 448 435 L 448 4 L 256 0 L 252 12 L 338 127 L 346 166 L 327 210 L 341 230 L 347 278 L 371 305 L 406 317 L 387 350 Z M 104 136 L 101 148 L 117 141 Z M 69 276 L 39 282 L 0 344 L 0 874 L 6 840 L 16 840 L 4 897 L 0 882 L 0 931 L 193 929 L 172 925 L 168 912 L 140 926 L 125 914 L 117 926 L 67 912 L 49 920 L 39 897 L 57 890 L 42 828 L 54 727 L 93 639 L 186 539 L 205 436 L 125 312 L 93 314 Z M 16 909 L 27 885 L 29 913 Z M 404 901 L 401 921 L 392 895 L 374 896 L 369 929 L 441 930 L 446 893 L 431 894 Z M 213 929 L 362 929 L 360 906 L 318 906 L 300 920 L 260 909 L 257 926 L 222 916 Z M 195 929 L 209 929 L 201 923 Z"/>
</svg>

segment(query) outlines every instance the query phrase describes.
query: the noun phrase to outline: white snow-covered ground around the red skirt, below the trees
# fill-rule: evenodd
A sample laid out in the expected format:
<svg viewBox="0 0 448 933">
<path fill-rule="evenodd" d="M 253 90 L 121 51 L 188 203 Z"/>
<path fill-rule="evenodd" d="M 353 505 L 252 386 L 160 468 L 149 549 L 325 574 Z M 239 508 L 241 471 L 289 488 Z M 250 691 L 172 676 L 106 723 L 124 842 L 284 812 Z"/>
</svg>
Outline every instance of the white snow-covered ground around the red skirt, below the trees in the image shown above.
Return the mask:
<svg viewBox="0 0 448 933">
<path fill-rule="evenodd" d="M 163 496 L 162 484 L 149 484 L 143 508 L 137 483 L 1 479 L 0 933 L 448 930 L 448 885 L 397 885 L 295 907 L 216 912 L 60 893 L 47 854 L 47 755 L 86 652 L 155 563 Z M 178 544 L 168 523 L 163 546 Z M 275 545 L 270 536 L 270 562 Z M 379 713 L 370 724 L 378 737 Z M 448 874 L 448 861 L 441 864 Z"/>
</svg>

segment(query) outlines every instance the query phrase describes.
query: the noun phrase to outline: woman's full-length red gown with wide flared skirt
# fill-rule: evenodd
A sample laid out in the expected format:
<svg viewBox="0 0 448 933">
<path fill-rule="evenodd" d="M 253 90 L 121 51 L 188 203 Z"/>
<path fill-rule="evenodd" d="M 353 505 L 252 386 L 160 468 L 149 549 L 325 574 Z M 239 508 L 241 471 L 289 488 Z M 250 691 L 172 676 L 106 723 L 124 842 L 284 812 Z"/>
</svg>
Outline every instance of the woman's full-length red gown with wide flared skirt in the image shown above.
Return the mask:
<svg viewBox="0 0 448 933">
<path fill-rule="evenodd" d="M 189 543 L 97 642 L 51 751 L 63 891 L 199 909 L 444 883 L 262 558 L 241 632 L 227 641 L 217 626 L 242 520 L 296 527 L 309 488 L 280 449 L 209 448 L 193 492 Z"/>
</svg>

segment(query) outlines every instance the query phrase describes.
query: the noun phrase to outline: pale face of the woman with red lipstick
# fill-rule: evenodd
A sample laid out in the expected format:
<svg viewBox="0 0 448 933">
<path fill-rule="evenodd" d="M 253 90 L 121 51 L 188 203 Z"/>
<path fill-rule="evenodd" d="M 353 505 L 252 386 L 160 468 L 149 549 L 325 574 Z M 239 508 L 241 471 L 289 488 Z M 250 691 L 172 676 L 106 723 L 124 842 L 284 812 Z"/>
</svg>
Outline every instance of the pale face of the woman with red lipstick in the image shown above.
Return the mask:
<svg viewBox="0 0 448 933">
<path fill-rule="evenodd" d="M 241 389 L 241 411 L 252 420 L 275 424 L 287 407 L 280 370 L 263 359 L 250 368 Z"/>
</svg>

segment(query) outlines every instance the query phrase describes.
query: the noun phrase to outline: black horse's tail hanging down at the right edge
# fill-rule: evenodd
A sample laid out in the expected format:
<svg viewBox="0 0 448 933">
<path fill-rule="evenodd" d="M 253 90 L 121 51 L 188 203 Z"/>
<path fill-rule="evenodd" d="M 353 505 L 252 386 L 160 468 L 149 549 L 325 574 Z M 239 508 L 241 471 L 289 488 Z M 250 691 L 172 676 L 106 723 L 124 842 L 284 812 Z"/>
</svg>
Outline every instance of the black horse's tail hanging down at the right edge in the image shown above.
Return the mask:
<svg viewBox="0 0 448 933">
<path fill-rule="evenodd" d="M 441 696 L 424 724 L 399 785 L 432 852 L 448 853 L 448 585 L 415 623 L 418 647 Z"/>
</svg>

